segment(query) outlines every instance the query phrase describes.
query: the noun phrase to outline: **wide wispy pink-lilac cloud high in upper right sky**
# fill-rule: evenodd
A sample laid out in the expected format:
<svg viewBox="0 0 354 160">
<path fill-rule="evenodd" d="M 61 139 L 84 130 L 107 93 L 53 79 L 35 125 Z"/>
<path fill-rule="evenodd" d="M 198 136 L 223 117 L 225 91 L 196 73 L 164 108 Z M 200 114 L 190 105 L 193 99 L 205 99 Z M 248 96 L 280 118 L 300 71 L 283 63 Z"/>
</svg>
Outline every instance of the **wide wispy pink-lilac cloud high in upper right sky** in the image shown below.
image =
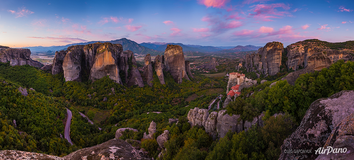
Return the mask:
<svg viewBox="0 0 354 160">
<path fill-rule="evenodd" d="M 276 4 L 258 4 L 250 6 L 252 8 L 251 11 L 254 13 L 249 13 L 249 16 L 253 16 L 254 18 L 261 19 L 262 21 L 273 21 L 269 18 L 282 18 L 283 16 L 291 15 L 286 11 L 278 11 L 275 8 L 282 8 L 284 10 L 289 10 L 290 7 L 285 5 L 284 3 L 276 3 Z"/>
</svg>

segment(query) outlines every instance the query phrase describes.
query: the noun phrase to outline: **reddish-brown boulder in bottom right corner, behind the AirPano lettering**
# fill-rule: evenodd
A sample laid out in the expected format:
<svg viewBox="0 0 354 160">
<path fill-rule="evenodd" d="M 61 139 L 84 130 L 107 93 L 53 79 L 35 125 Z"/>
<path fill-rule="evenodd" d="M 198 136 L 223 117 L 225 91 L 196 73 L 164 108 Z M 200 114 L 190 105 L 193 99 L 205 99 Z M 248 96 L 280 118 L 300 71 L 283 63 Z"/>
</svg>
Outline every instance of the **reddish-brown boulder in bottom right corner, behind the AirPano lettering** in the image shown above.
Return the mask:
<svg viewBox="0 0 354 160">
<path fill-rule="evenodd" d="M 339 159 L 354 159 L 354 114 L 350 114 L 343 119 L 331 132 L 325 145 L 323 146 L 335 148 L 346 148 L 347 152 L 338 152 L 333 150 L 329 154 L 320 154 L 316 160 L 339 160 Z M 343 151 L 343 150 L 342 150 Z M 327 152 L 326 152 L 327 153 Z"/>
</svg>

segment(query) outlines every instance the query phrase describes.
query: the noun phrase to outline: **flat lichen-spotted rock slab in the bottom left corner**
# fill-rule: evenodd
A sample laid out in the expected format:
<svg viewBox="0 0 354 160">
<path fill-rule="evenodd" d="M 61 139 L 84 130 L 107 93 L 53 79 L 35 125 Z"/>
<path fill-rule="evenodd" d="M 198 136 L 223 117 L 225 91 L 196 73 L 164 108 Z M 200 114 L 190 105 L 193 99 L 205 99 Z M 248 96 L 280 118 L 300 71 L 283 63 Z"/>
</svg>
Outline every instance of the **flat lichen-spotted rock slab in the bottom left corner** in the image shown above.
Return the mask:
<svg viewBox="0 0 354 160">
<path fill-rule="evenodd" d="M 19 150 L 1 150 L 0 159 L 11 160 L 65 160 L 58 156 L 52 156 L 42 153 L 24 152 Z"/>
</svg>

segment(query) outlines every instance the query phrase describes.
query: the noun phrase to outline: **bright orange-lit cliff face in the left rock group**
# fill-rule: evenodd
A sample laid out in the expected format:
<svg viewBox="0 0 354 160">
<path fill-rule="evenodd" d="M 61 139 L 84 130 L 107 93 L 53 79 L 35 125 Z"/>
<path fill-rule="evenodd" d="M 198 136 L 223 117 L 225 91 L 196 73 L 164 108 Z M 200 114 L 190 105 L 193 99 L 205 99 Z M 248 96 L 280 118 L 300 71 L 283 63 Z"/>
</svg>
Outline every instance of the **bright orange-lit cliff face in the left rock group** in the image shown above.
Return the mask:
<svg viewBox="0 0 354 160">
<path fill-rule="evenodd" d="M 99 46 L 91 68 L 91 79 L 100 79 L 108 75 L 110 79 L 122 84 L 118 68 L 118 58 L 122 52 L 121 44 L 105 42 Z"/>
</svg>

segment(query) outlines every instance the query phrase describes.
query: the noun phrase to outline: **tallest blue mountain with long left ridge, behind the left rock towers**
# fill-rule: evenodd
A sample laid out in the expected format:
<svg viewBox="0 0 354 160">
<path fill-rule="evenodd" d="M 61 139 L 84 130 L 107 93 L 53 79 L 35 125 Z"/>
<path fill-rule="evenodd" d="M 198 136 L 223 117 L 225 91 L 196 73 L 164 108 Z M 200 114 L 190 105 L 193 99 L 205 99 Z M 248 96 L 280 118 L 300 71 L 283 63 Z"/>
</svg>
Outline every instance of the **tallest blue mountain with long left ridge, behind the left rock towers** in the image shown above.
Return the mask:
<svg viewBox="0 0 354 160">
<path fill-rule="evenodd" d="M 112 44 L 121 44 L 123 46 L 124 51 L 131 50 L 134 53 L 137 53 L 139 55 L 147 55 L 147 54 L 158 55 L 161 53 L 160 51 L 156 51 L 151 48 L 141 46 L 137 42 L 126 39 L 126 38 L 117 39 L 117 40 L 113 40 L 113 41 L 90 41 L 90 42 L 84 42 L 84 43 L 74 43 L 74 44 L 68 44 L 65 46 L 50 46 L 50 47 L 36 46 L 36 47 L 23 47 L 23 48 L 28 48 L 31 51 L 42 51 L 42 52 L 44 52 L 44 51 L 47 52 L 48 50 L 60 51 L 60 50 L 67 50 L 67 48 L 70 46 L 87 45 L 87 44 L 96 43 L 96 42 L 102 42 L 102 43 L 111 42 Z"/>
</svg>

